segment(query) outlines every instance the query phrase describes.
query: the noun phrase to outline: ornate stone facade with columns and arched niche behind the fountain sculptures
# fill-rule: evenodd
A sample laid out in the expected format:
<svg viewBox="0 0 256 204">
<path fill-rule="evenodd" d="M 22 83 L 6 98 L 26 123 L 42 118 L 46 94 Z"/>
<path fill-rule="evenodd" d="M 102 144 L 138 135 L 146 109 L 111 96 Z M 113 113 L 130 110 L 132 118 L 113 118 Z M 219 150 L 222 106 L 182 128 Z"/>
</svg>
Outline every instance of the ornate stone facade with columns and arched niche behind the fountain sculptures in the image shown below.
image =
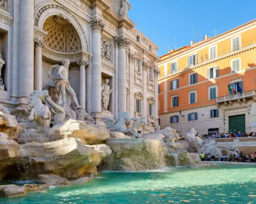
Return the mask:
<svg viewBox="0 0 256 204">
<path fill-rule="evenodd" d="M 127 0 L 1 2 L 0 104 L 26 107 L 33 90 L 55 86 L 49 70 L 68 59 L 78 103 L 99 124 L 128 111 L 145 116 L 146 131 L 154 131 L 158 47 L 134 28 Z"/>
</svg>

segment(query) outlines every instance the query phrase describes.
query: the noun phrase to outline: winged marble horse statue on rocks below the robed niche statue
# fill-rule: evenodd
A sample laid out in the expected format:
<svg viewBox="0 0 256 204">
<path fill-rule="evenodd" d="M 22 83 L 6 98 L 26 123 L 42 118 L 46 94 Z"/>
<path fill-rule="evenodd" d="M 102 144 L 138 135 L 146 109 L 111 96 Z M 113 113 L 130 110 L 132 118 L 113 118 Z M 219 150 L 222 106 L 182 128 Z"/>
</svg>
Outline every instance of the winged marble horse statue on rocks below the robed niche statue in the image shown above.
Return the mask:
<svg viewBox="0 0 256 204">
<path fill-rule="evenodd" d="M 123 134 L 130 133 L 130 129 L 126 127 L 126 123 L 131 122 L 131 116 L 128 112 L 123 111 L 119 113 L 115 122 L 113 118 L 109 117 L 101 117 L 101 119 L 110 131 L 121 132 Z"/>
</svg>

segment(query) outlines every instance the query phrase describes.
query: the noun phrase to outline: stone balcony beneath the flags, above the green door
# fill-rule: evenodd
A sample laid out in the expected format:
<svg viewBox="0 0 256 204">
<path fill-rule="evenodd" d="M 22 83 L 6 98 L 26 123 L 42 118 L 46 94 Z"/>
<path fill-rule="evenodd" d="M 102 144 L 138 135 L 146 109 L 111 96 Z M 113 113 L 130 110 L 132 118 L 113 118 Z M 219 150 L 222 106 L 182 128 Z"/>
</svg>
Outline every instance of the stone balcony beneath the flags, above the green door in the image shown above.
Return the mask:
<svg viewBox="0 0 256 204">
<path fill-rule="evenodd" d="M 242 93 L 236 93 L 236 94 L 229 94 L 225 96 L 219 96 L 217 97 L 217 103 L 225 103 L 227 102 L 229 104 L 232 103 L 233 100 L 237 100 L 239 102 L 245 101 L 247 99 L 253 98 L 254 100 L 256 99 L 256 91 L 255 90 L 250 90 L 250 91 L 244 91 Z"/>
</svg>

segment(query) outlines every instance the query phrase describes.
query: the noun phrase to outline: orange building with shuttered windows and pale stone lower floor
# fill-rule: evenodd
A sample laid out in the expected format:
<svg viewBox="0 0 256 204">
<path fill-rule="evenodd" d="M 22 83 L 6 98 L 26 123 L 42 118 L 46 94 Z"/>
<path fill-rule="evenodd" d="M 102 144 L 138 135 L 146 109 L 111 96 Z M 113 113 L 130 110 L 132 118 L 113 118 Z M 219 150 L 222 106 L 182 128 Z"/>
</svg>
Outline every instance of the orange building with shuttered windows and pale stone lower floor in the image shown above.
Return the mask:
<svg viewBox="0 0 256 204">
<path fill-rule="evenodd" d="M 199 135 L 256 131 L 256 20 L 160 58 L 161 128 L 183 136 L 192 127 Z"/>
</svg>

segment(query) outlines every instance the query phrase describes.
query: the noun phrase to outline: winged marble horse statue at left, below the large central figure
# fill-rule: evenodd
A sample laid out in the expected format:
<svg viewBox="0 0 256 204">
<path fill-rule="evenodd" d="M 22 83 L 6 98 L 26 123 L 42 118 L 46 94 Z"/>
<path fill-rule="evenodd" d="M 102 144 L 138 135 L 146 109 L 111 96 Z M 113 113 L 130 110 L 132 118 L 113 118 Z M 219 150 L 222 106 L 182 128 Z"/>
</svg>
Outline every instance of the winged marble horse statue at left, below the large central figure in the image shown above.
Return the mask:
<svg viewBox="0 0 256 204">
<path fill-rule="evenodd" d="M 51 112 L 46 105 L 47 90 L 33 91 L 28 96 L 28 108 L 17 107 L 10 114 L 16 116 L 17 121 L 35 122 L 35 126 L 49 127 Z"/>
</svg>

